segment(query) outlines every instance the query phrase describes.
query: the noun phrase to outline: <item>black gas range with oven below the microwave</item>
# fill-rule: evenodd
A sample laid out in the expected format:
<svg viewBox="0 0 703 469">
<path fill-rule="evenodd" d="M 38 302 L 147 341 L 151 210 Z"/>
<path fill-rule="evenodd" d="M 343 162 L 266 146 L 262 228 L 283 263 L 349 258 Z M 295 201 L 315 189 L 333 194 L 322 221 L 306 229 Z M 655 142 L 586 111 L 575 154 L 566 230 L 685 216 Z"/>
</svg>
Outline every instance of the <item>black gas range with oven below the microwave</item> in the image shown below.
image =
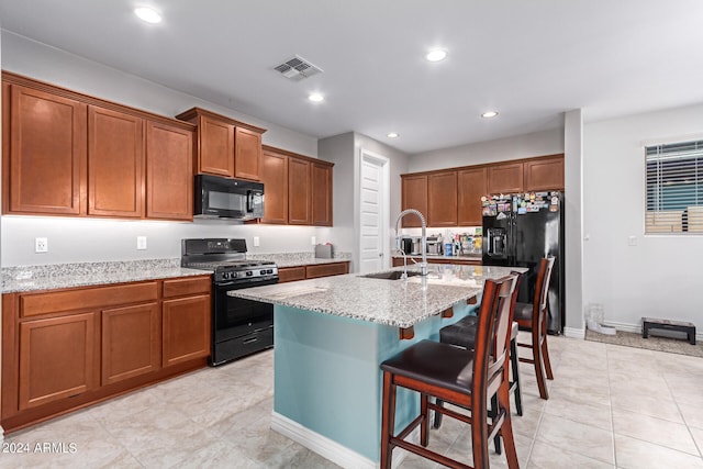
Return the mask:
<svg viewBox="0 0 703 469">
<path fill-rule="evenodd" d="M 227 291 L 278 283 L 278 268 L 267 260 L 246 259 L 246 241 L 181 241 L 181 267 L 212 273 L 212 348 L 217 366 L 274 346 L 274 305 Z"/>
</svg>

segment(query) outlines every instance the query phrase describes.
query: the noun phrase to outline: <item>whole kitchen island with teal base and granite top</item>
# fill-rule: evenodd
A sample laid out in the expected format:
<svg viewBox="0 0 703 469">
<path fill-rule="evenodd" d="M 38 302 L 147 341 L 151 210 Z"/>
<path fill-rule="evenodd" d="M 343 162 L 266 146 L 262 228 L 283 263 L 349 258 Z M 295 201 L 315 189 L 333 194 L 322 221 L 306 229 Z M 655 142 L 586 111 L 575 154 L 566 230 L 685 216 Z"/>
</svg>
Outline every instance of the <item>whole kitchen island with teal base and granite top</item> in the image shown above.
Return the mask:
<svg viewBox="0 0 703 469">
<path fill-rule="evenodd" d="M 228 292 L 275 304 L 271 427 L 343 467 L 378 467 L 379 365 L 421 339 L 438 340 L 440 327 L 473 312 L 483 280 L 510 271 L 433 265 L 426 278 L 406 281 L 350 273 Z M 401 338 L 409 331 L 413 337 Z M 416 394 L 399 392 L 398 428 L 417 405 Z"/>
</svg>

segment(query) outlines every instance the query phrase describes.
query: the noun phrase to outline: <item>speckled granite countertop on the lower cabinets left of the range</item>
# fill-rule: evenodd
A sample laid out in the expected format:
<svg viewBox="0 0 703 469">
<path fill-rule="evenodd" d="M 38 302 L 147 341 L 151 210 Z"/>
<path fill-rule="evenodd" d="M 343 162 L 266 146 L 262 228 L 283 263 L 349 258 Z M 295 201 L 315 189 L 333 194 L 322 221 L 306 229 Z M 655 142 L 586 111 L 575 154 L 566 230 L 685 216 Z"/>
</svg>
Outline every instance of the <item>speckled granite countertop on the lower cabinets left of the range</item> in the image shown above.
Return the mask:
<svg viewBox="0 0 703 469">
<path fill-rule="evenodd" d="M 105 263 L 49 264 L 2 268 L 2 293 L 55 290 L 209 275 L 185 269 L 180 259 L 146 259 Z"/>
</svg>

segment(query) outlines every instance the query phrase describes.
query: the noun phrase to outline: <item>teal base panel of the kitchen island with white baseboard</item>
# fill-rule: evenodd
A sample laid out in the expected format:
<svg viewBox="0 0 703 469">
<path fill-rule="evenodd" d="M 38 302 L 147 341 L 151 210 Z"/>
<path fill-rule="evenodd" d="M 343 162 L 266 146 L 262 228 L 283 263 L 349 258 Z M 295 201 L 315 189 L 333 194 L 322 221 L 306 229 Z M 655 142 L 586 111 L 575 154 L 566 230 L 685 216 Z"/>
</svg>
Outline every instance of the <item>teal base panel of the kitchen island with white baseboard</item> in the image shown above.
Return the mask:
<svg viewBox="0 0 703 469">
<path fill-rule="evenodd" d="M 439 339 L 439 328 L 476 305 L 458 303 L 454 315 L 415 324 L 412 339 L 395 326 L 276 305 L 275 388 L 271 428 L 346 468 L 380 461 L 380 364 L 412 344 Z M 398 394 L 395 426 L 406 426 L 420 397 Z"/>
</svg>

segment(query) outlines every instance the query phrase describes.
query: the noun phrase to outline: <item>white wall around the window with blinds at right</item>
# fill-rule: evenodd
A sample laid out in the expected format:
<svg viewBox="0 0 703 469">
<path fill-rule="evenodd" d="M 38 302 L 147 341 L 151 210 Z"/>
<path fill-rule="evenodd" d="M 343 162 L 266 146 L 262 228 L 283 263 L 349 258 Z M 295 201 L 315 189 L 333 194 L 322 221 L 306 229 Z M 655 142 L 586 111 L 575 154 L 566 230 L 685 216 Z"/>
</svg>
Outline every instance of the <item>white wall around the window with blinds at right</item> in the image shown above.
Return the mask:
<svg viewBox="0 0 703 469">
<path fill-rule="evenodd" d="M 584 125 L 583 302 L 603 304 L 606 323 L 639 331 L 640 317 L 654 316 L 703 326 L 703 237 L 644 235 L 643 145 L 702 132 L 703 104 Z"/>
</svg>

